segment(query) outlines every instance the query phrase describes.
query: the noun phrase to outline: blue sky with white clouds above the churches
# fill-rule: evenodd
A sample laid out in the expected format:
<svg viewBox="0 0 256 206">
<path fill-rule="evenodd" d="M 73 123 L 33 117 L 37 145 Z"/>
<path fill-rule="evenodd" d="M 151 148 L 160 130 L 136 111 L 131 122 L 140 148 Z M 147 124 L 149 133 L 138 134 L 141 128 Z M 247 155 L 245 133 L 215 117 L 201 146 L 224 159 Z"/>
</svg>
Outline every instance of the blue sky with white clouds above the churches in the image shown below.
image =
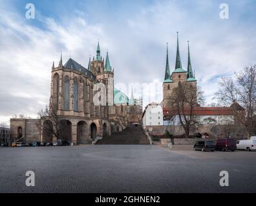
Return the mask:
<svg viewBox="0 0 256 206">
<path fill-rule="evenodd" d="M 27 19 L 26 5 L 36 8 Z M 221 19 L 226 3 L 229 18 Z M 162 101 L 166 42 L 171 72 L 176 32 L 182 66 L 187 41 L 198 86 L 206 104 L 222 76 L 256 63 L 256 1 L 253 0 L 0 0 L 0 122 L 12 115 L 37 117 L 50 98 L 52 62 L 72 59 L 87 68 L 89 56 L 109 52 L 116 88 L 144 97 L 144 106 Z M 144 88 L 143 90 L 140 88 Z"/>
</svg>

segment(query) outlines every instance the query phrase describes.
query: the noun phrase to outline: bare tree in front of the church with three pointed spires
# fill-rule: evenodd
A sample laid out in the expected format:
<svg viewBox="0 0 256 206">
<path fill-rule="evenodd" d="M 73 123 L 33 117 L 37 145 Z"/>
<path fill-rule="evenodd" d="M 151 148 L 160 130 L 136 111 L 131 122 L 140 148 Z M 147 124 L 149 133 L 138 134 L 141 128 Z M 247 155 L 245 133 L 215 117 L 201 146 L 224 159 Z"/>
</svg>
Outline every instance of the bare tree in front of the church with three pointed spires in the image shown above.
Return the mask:
<svg viewBox="0 0 256 206">
<path fill-rule="evenodd" d="M 200 88 L 193 88 L 187 82 L 178 83 L 171 94 L 171 113 L 177 115 L 180 125 L 183 127 L 186 138 L 192 129 L 201 126 L 200 117 L 195 115 L 195 108 L 204 103 L 203 92 Z"/>
</svg>

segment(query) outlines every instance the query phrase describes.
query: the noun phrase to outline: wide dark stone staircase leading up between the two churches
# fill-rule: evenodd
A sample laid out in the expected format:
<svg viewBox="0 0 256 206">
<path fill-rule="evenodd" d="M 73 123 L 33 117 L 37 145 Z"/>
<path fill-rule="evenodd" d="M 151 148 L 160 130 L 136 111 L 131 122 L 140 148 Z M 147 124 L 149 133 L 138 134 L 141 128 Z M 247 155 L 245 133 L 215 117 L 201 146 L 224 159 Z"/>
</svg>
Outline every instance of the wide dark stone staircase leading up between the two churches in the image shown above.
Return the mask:
<svg viewBox="0 0 256 206">
<path fill-rule="evenodd" d="M 142 127 L 127 127 L 123 131 L 103 137 L 96 144 L 149 144 L 149 140 Z"/>
</svg>

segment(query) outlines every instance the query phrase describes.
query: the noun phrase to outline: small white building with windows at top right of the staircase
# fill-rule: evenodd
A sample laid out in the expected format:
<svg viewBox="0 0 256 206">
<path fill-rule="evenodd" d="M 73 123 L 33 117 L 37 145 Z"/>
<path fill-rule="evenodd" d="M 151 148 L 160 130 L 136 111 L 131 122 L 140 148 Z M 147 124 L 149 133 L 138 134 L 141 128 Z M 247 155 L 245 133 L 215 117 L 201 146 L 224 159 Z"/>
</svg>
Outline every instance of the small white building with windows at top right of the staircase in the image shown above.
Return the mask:
<svg viewBox="0 0 256 206">
<path fill-rule="evenodd" d="M 147 105 L 142 115 L 142 126 L 162 126 L 163 125 L 163 109 L 160 104 L 151 103 Z"/>
</svg>

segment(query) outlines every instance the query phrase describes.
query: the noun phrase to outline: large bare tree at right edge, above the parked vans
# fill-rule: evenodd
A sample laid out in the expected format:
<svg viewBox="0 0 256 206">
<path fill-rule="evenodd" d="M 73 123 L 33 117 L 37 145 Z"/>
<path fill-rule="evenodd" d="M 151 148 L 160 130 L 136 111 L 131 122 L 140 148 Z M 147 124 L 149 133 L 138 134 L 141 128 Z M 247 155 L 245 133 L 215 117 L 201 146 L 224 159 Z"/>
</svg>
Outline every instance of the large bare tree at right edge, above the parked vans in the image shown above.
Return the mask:
<svg viewBox="0 0 256 206">
<path fill-rule="evenodd" d="M 222 106 L 231 106 L 235 122 L 246 129 L 248 136 L 256 131 L 256 65 L 236 73 L 235 79 L 222 77 L 215 93 Z M 242 111 L 245 109 L 245 113 Z"/>
</svg>

